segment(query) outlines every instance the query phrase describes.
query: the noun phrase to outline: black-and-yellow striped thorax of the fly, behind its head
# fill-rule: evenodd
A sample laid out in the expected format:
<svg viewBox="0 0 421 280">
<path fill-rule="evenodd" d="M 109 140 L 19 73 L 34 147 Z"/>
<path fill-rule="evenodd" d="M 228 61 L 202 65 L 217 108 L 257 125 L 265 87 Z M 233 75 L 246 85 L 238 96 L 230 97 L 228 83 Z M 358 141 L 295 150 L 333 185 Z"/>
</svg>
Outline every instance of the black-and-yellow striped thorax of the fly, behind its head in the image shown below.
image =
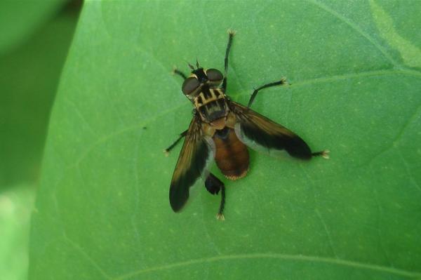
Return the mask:
<svg viewBox="0 0 421 280">
<path fill-rule="evenodd" d="M 226 117 L 229 112 L 227 99 L 220 88 L 203 86 L 201 92 L 194 98 L 193 103 L 202 121 L 208 124 Z"/>
</svg>

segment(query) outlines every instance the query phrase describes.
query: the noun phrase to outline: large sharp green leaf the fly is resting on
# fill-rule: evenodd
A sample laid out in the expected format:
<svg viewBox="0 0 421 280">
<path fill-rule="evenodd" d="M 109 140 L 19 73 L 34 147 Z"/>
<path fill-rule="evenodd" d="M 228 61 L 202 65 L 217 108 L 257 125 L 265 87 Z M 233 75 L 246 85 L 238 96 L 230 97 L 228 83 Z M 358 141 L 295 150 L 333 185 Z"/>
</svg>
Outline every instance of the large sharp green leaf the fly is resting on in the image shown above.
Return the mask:
<svg viewBox="0 0 421 280">
<path fill-rule="evenodd" d="M 421 279 L 416 10 L 87 1 L 51 115 L 29 279 Z M 253 86 L 286 76 L 253 108 L 331 158 L 250 151 L 246 178 L 224 180 L 220 222 L 203 187 L 171 211 L 180 147 L 162 149 L 192 117 L 173 65 L 223 69 L 228 28 L 227 93 L 246 104 Z"/>
</svg>

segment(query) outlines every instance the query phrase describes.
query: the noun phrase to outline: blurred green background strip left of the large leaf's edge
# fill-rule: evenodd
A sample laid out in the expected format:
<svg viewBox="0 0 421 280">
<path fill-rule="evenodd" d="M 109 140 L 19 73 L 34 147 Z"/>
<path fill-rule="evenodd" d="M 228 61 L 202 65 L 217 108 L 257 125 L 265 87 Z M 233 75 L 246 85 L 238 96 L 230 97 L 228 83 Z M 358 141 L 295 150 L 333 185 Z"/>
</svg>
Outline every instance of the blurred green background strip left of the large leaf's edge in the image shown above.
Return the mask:
<svg viewBox="0 0 421 280">
<path fill-rule="evenodd" d="M 0 2 L 0 279 L 26 279 L 48 116 L 81 1 Z"/>
</svg>

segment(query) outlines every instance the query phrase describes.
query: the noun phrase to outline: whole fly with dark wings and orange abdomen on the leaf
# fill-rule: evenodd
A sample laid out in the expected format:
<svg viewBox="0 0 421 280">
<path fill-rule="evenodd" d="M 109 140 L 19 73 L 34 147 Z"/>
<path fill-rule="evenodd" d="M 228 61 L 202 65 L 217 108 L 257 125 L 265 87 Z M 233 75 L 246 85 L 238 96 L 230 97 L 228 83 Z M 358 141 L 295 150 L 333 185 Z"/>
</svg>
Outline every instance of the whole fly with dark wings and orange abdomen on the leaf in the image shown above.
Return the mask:
<svg viewBox="0 0 421 280">
<path fill-rule="evenodd" d="M 199 67 L 198 62 L 196 68 L 189 65 L 192 73 L 188 77 L 178 69 L 174 70 L 175 74 L 185 79 L 182 92 L 194 105 L 189 128 L 165 150 L 168 153 L 185 137 L 170 186 L 170 204 L 175 212 L 180 211 L 187 202 L 189 188 L 203 177 L 208 192 L 218 194 L 221 191 L 217 218 L 224 220 L 225 185 L 208 168 L 215 160 L 226 178 L 242 178 L 249 166 L 246 146 L 284 149 L 290 156 L 299 159 L 308 160 L 319 155 L 328 157 L 328 151 L 312 152 L 298 135 L 250 109 L 258 91 L 286 84 L 285 79 L 255 89 L 247 107 L 228 98 L 225 94 L 227 66 L 233 36 L 234 32 L 229 32 L 224 75 L 218 69 Z"/>
</svg>

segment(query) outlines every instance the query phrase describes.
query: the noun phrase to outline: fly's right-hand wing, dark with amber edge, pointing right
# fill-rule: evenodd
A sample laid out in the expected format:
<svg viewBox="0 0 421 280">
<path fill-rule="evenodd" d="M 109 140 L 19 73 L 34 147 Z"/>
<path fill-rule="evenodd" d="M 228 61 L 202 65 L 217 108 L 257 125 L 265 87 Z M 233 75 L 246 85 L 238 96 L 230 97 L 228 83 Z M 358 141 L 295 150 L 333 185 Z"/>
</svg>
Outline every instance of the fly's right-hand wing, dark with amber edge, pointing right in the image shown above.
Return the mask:
<svg viewBox="0 0 421 280">
<path fill-rule="evenodd" d="M 230 104 L 237 119 L 235 133 L 244 144 L 267 150 L 285 149 L 288 154 L 300 159 L 312 158 L 312 151 L 306 142 L 288 128 L 239 103 L 230 101 Z"/>
</svg>

